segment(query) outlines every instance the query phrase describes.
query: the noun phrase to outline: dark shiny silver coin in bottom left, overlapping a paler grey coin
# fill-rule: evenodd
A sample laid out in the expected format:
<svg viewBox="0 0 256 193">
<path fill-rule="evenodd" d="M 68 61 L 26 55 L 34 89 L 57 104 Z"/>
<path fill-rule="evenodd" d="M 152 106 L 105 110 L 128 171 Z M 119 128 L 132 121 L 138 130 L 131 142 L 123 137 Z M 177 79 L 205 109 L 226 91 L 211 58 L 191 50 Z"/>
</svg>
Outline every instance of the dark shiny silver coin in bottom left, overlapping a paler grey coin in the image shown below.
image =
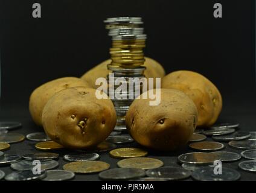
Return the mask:
<svg viewBox="0 0 256 193">
<path fill-rule="evenodd" d="M 39 173 L 34 174 L 32 169 L 24 170 L 24 171 L 14 171 L 5 176 L 5 180 L 7 181 L 28 181 L 28 180 L 39 180 L 46 177 L 46 172 L 44 170 Z"/>
</svg>

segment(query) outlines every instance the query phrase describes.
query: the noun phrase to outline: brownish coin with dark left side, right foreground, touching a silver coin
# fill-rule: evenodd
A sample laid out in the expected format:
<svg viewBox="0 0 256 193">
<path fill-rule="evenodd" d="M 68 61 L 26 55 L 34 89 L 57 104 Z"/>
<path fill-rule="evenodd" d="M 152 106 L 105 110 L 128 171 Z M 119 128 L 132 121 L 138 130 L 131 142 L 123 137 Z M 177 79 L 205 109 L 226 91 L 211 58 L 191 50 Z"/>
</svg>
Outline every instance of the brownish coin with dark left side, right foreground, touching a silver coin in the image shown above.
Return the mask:
<svg viewBox="0 0 256 193">
<path fill-rule="evenodd" d="M 194 153 L 185 153 L 178 157 L 179 162 L 181 163 L 193 163 L 193 164 L 211 164 L 215 160 L 219 160 L 214 154 L 203 153 L 203 152 L 194 152 Z"/>
</svg>

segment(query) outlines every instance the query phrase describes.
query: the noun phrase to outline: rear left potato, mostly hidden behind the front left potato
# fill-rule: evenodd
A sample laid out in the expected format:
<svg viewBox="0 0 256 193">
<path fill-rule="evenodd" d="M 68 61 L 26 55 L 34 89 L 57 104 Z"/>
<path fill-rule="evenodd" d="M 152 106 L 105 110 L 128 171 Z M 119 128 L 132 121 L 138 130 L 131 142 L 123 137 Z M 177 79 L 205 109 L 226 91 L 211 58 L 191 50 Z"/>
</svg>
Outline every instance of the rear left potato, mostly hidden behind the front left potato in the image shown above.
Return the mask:
<svg viewBox="0 0 256 193">
<path fill-rule="evenodd" d="M 90 87 L 86 81 L 75 77 L 58 78 L 37 87 L 30 95 L 29 109 L 33 121 L 42 125 L 43 107 L 55 93 L 69 87 L 85 86 Z"/>
</svg>

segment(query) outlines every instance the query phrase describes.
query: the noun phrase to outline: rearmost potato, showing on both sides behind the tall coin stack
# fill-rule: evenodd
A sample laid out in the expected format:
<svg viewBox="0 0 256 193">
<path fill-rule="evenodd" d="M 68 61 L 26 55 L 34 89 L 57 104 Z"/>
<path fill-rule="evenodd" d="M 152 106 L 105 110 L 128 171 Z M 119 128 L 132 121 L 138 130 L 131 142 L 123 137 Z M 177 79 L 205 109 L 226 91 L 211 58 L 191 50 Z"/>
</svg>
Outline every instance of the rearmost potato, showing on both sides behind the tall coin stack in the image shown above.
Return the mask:
<svg viewBox="0 0 256 193">
<path fill-rule="evenodd" d="M 149 57 L 145 57 L 146 61 L 144 63 L 144 66 L 146 66 L 146 71 L 144 72 L 146 78 L 162 78 L 165 75 L 164 68 L 156 62 L 153 59 L 150 59 Z M 89 83 L 91 87 L 94 87 L 95 89 L 98 86 L 95 86 L 95 81 L 99 77 L 106 78 L 109 74 L 109 71 L 107 69 L 107 65 L 111 63 L 111 60 L 105 60 L 104 62 L 100 63 L 99 65 L 95 66 L 88 72 L 86 72 L 81 78 Z"/>
</svg>

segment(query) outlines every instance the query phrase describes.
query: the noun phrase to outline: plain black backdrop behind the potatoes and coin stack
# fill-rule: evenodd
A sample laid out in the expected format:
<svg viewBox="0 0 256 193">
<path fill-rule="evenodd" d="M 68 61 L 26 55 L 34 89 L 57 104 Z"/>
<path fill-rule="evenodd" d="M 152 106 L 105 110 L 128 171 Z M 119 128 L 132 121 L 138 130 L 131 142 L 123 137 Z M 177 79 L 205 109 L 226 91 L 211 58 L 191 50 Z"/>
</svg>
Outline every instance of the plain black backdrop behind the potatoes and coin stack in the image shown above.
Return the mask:
<svg viewBox="0 0 256 193">
<path fill-rule="evenodd" d="M 80 77 L 109 58 L 103 20 L 141 16 L 146 55 L 166 72 L 197 71 L 223 95 L 224 107 L 251 106 L 255 93 L 254 1 L 0 1 L 1 105 L 27 106 L 31 91 L 59 77 Z M 31 16 L 42 5 L 42 18 Z M 223 18 L 213 17 L 214 2 Z"/>
</svg>

